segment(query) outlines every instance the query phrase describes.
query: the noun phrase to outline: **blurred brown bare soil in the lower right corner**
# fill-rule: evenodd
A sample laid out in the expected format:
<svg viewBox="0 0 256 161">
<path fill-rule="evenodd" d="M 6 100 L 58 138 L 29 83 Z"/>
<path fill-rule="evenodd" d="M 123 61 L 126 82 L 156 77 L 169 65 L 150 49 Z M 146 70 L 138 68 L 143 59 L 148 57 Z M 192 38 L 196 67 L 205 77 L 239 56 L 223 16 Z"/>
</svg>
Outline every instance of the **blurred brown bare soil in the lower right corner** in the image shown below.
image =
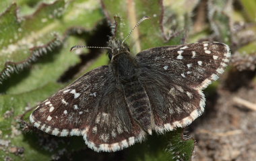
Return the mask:
<svg viewBox="0 0 256 161">
<path fill-rule="evenodd" d="M 241 77 L 232 81 L 243 84 Z M 193 160 L 256 160 L 256 83 L 245 82 L 235 90 L 222 82 L 224 87 L 207 96 L 205 112 L 190 127 L 197 142 Z"/>
</svg>

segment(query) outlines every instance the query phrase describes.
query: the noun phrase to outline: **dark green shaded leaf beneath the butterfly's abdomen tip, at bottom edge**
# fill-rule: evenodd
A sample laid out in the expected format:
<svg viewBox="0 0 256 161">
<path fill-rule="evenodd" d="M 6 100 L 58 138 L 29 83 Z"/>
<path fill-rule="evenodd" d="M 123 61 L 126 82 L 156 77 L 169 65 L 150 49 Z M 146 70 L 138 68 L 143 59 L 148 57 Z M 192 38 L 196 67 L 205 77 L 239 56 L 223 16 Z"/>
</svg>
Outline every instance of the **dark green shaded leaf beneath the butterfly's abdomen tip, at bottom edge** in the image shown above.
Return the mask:
<svg viewBox="0 0 256 161">
<path fill-rule="evenodd" d="M 125 150 L 126 159 L 131 161 L 158 160 L 191 160 L 195 141 L 183 137 L 183 129 L 179 128 L 164 135 L 149 136 L 146 142 L 135 144 Z"/>
</svg>

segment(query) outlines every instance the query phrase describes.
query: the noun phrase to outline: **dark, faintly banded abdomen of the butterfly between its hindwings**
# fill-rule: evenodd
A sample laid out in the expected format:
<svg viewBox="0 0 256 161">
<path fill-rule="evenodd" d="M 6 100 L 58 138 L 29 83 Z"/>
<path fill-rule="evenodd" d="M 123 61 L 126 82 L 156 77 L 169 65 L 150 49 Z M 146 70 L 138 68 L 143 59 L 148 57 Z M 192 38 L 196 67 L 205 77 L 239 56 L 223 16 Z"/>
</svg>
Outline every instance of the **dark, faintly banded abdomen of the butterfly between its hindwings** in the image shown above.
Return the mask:
<svg viewBox="0 0 256 161">
<path fill-rule="evenodd" d="M 150 100 L 145 89 L 141 83 L 139 83 L 139 80 L 135 79 L 129 83 L 123 84 L 123 91 L 131 117 L 133 117 L 144 130 L 151 133 L 152 110 Z"/>
</svg>

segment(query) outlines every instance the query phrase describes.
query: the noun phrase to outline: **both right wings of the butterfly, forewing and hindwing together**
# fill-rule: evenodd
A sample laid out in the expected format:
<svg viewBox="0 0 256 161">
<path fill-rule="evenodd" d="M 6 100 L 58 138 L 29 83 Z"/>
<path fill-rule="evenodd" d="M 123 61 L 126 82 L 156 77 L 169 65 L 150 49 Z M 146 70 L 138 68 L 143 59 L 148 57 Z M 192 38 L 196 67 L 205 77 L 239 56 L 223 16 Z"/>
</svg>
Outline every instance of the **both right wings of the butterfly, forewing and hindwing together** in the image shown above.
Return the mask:
<svg viewBox="0 0 256 161">
<path fill-rule="evenodd" d="M 203 112 L 202 89 L 224 72 L 228 46 L 203 42 L 143 50 L 139 79 L 150 97 L 156 131 L 189 125 Z"/>
</svg>

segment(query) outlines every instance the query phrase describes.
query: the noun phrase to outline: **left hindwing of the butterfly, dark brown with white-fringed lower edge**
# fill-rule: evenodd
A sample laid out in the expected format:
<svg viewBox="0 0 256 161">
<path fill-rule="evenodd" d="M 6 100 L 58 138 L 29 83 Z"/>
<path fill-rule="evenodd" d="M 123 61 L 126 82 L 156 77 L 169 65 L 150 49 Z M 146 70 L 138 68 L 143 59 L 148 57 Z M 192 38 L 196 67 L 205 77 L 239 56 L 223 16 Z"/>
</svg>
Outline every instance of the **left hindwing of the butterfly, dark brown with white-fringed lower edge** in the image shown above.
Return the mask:
<svg viewBox="0 0 256 161">
<path fill-rule="evenodd" d="M 123 93 L 116 90 L 104 97 L 108 99 L 100 102 L 84 136 L 88 146 L 96 151 L 115 152 L 141 142 L 146 133 L 131 118 Z"/>
</svg>

